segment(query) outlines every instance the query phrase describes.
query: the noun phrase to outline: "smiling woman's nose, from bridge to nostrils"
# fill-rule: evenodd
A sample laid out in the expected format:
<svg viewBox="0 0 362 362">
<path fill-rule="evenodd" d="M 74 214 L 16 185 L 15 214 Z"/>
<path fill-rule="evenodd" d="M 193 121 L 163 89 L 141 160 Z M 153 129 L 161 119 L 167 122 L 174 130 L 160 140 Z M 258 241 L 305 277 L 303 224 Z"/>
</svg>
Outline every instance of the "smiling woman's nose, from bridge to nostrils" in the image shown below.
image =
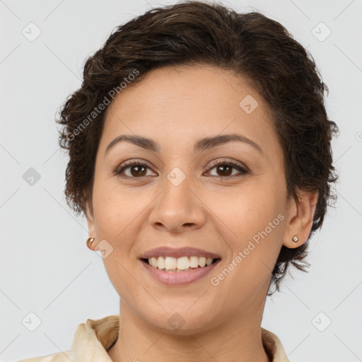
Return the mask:
<svg viewBox="0 0 362 362">
<path fill-rule="evenodd" d="M 180 185 L 165 180 L 163 192 L 156 198 L 149 216 L 153 228 L 182 233 L 204 225 L 206 206 L 191 183 L 187 177 Z"/>
</svg>

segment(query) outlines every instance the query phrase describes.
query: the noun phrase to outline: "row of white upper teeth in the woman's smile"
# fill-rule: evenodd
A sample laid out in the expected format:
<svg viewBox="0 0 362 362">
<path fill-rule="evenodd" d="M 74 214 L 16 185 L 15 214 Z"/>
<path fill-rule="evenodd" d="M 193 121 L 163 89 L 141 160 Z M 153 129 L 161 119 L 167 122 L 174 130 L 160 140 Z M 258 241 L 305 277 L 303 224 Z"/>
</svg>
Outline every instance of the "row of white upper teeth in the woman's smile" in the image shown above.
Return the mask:
<svg viewBox="0 0 362 362">
<path fill-rule="evenodd" d="M 186 270 L 197 267 L 205 267 L 212 264 L 211 257 L 150 257 L 148 264 L 154 268 L 164 270 Z"/>
</svg>

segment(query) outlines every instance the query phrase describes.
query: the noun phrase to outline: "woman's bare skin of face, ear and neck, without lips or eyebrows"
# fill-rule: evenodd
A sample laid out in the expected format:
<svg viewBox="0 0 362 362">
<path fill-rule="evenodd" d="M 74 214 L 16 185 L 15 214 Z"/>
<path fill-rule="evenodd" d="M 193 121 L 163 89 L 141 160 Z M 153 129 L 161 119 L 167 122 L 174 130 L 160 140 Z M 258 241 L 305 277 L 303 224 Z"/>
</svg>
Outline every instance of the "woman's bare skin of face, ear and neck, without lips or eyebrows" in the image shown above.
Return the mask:
<svg viewBox="0 0 362 362">
<path fill-rule="evenodd" d="M 246 95 L 259 103 L 250 114 L 239 105 Z M 252 139 L 263 153 L 240 141 L 194 151 L 199 139 L 231 133 Z M 121 134 L 151 138 L 160 153 L 124 141 L 105 153 Z M 224 158 L 249 173 L 209 166 Z M 148 167 L 115 175 L 125 160 Z M 186 176 L 178 186 L 167 177 L 173 168 Z M 165 66 L 127 86 L 107 109 L 87 216 L 91 248 L 101 240 L 113 247 L 104 259 L 120 297 L 119 337 L 107 351 L 112 361 L 269 361 L 260 327 L 271 271 L 282 245 L 307 240 L 316 201 L 306 192 L 299 202 L 287 199 L 283 152 L 266 105 L 240 76 L 214 66 Z M 279 225 L 212 285 L 279 214 Z M 163 245 L 199 247 L 221 262 L 192 284 L 164 286 L 138 259 Z M 168 324 L 174 313 L 185 322 L 178 330 Z"/>
</svg>

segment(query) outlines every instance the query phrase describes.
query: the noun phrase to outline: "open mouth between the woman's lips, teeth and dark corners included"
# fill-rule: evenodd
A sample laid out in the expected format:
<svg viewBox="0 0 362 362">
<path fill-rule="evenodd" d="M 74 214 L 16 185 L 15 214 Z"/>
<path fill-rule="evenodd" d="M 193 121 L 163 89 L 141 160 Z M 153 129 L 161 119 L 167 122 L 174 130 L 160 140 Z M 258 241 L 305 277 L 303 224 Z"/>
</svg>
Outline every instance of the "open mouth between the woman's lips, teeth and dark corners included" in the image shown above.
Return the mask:
<svg viewBox="0 0 362 362">
<path fill-rule="evenodd" d="M 154 269 L 158 269 L 161 271 L 190 271 L 194 269 L 204 269 L 209 267 L 211 264 L 215 264 L 216 262 L 220 261 L 221 258 L 205 258 L 205 257 L 191 257 L 190 259 L 187 257 L 179 258 L 181 259 L 178 261 L 174 257 L 166 257 L 162 259 L 159 258 L 141 258 L 140 260 L 149 266 L 153 267 Z M 158 262 L 159 261 L 159 262 Z"/>
</svg>

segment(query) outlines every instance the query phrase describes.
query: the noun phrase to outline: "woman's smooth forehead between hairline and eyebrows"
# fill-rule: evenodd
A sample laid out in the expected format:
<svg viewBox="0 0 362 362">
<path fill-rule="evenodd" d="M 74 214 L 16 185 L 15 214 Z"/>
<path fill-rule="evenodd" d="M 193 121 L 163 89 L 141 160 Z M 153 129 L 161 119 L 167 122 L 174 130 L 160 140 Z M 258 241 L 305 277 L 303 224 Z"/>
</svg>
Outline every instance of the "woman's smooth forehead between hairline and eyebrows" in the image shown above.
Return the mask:
<svg viewBox="0 0 362 362">
<path fill-rule="evenodd" d="M 269 150 L 278 147 L 262 98 L 242 77 L 216 66 L 164 66 L 115 97 L 100 148 L 104 152 L 120 134 L 146 136 L 160 151 L 171 151 L 225 133 L 243 134 Z"/>
</svg>

